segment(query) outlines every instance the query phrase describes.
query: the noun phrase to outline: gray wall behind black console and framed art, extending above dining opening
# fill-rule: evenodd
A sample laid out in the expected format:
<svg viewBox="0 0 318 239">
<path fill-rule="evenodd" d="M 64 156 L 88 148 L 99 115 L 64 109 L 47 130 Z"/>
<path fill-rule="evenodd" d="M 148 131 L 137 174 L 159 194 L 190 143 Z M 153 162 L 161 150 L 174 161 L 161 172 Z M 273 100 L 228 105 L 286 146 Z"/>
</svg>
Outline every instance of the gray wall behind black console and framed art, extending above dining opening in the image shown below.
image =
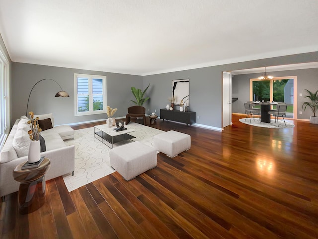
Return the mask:
<svg viewBox="0 0 318 239">
<path fill-rule="evenodd" d="M 196 123 L 215 128 L 222 127 L 222 71 L 233 71 L 240 69 L 250 69 L 264 66 L 275 66 L 285 64 L 296 64 L 304 62 L 318 61 L 318 52 L 304 53 L 290 56 L 274 57 L 267 59 L 260 59 L 255 61 L 240 62 L 233 64 L 226 64 L 220 66 L 204 67 L 192 70 L 149 75 L 144 77 L 144 86 L 150 83 L 154 91 L 151 92 L 151 101 L 147 105 L 152 110 L 159 111 L 160 108 L 165 108 L 168 103 L 168 97 L 171 95 L 172 80 L 175 79 L 190 79 L 190 111 L 195 111 L 197 115 Z M 306 72 L 306 71 L 305 71 Z M 301 93 L 303 89 L 317 89 L 317 74 L 305 73 L 298 81 L 298 91 Z M 310 75 L 310 77 L 309 77 Z M 257 77 L 259 75 L 257 74 Z M 256 75 L 255 75 L 256 77 Z M 248 80 L 249 82 L 249 80 Z M 234 84 L 234 83 L 232 83 Z M 244 83 L 243 83 L 244 84 Z M 233 97 L 236 94 L 239 96 L 249 96 L 249 85 L 243 85 L 238 89 L 232 85 Z M 238 92 L 239 91 L 239 92 Z M 303 101 L 299 98 L 298 101 Z M 298 107 L 300 106 L 298 102 Z M 159 112 L 158 114 L 159 115 Z M 198 119 L 198 116 L 200 117 Z M 305 119 L 306 115 L 302 115 Z"/>
</svg>

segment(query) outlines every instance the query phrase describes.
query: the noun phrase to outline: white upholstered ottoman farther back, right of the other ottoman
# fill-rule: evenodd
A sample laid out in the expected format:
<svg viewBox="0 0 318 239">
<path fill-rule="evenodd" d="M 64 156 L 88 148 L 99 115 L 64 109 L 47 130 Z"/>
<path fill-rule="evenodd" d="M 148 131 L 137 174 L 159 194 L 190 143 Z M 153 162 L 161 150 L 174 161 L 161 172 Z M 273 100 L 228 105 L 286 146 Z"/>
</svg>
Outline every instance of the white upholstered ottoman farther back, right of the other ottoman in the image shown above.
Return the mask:
<svg viewBox="0 0 318 239">
<path fill-rule="evenodd" d="M 191 136 L 185 133 L 171 130 L 154 136 L 154 148 L 171 158 L 190 147 Z"/>
</svg>

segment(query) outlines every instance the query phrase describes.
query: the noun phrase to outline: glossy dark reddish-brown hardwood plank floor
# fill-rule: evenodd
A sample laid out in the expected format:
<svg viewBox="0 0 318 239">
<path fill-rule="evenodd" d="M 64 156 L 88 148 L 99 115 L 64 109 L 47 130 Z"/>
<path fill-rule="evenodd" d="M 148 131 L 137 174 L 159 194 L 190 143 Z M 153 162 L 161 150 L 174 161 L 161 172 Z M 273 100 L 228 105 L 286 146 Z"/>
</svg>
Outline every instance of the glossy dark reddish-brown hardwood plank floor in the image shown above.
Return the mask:
<svg viewBox="0 0 318 239">
<path fill-rule="evenodd" d="M 151 127 L 190 134 L 191 149 L 159 153 L 129 182 L 115 172 L 69 193 L 62 177 L 49 180 L 46 203 L 28 215 L 10 194 L 1 238 L 318 238 L 318 125 L 268 129 L 242 117 L 222 133 L 157 119 Z"/>
</svg>

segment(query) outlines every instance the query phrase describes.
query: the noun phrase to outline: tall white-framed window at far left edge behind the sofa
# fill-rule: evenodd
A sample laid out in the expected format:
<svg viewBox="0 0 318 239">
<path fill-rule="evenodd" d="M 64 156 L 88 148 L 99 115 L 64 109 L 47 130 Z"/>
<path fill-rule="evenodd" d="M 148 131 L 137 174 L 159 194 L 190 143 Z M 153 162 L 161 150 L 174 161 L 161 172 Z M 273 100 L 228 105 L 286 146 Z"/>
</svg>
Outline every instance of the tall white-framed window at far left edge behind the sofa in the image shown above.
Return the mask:
<svg viewBox="0 0 318 239">
<path fill-rule="evenodd" d="M 10 130 L 9 61 L 0 46 L 0 149 Z"/>
</svg>

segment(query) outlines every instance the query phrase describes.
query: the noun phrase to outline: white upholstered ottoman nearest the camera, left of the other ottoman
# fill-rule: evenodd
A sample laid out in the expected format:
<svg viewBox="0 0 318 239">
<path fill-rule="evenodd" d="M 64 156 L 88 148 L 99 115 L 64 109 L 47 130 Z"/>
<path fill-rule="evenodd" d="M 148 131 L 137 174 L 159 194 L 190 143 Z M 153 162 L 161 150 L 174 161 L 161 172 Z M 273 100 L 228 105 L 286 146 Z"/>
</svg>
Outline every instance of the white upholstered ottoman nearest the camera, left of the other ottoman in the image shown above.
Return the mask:
<svg viewBox="0 0 318 239">
<path fill-rule="evenodd" d="M 110 150 L 110 166 L 128 181 L 157 165 L 157 151 L 141 142 Z"/>
</svg>

